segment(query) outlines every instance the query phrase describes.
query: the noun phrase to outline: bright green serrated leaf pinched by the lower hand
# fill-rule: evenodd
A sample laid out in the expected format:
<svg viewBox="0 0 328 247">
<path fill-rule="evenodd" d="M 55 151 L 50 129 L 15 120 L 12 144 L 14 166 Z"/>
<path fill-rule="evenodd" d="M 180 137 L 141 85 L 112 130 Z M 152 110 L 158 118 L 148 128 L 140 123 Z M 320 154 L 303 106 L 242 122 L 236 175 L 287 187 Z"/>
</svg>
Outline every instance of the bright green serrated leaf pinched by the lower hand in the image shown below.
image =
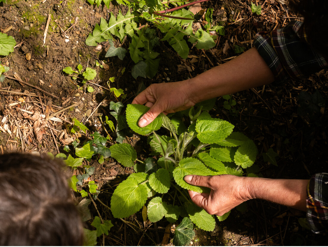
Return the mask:
<svg viewBox="0 0 328 247">
<path fill-rule="evenodd" d="M 186 175 L 208 176 L 212 175 L 212 172 L 201 161 L 191 157 L 181 159 L 179 166 L 173 171 L 174 180 L 179 186 L 187 190 L 202 193 L 204 192 L 203 188 L 190 185 L 183 180 Z"/>
</svg>

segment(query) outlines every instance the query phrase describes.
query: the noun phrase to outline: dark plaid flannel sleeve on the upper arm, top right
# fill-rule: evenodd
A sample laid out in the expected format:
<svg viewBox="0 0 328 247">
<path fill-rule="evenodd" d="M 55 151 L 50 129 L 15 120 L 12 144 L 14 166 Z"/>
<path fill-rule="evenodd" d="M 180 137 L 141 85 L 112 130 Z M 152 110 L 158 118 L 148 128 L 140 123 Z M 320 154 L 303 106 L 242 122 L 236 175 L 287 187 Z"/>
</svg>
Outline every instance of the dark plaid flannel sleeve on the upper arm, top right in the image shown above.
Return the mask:
<svg viewBox="0 0 328 247">
<path fill-rule="evenodd" d="M 273 72 L 276 82 L 305 79 L 328 68 L 328 58 L 307 42 L 303 22 L 291 21 L 286 27 L 270 33 L 259 32 L 254 46 Z"/>
</svg>

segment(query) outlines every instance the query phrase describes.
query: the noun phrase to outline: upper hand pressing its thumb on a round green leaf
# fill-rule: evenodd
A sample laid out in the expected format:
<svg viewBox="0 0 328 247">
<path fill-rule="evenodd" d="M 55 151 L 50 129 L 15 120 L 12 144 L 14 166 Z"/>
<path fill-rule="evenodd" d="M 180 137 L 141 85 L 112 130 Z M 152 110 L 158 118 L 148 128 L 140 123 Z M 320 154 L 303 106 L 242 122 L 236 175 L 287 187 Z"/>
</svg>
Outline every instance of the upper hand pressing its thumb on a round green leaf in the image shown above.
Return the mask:
<svg viewBox="0 0 328 247">
<path fill-rule="evenodd" d="M 174 113 L 186 110 L 194 106 L 195 101 L 188 80 L 152 84 L 139 93 L 132 104 L 140 104 L 150 107 L 139 120 L 139 126 L 150 124 L 160 113 Z"/>
</svg>

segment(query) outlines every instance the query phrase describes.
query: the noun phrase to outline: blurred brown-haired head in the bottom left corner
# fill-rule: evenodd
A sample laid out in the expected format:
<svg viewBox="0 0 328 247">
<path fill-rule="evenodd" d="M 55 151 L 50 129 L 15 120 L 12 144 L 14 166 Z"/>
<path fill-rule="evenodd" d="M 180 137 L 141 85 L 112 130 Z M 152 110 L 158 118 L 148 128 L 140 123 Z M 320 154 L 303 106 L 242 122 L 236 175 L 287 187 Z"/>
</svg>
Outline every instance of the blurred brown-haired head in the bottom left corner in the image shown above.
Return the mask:
<svg viewBox="0 0 328 247">
<path fill-rule="evenodd" d="M 47 156 L 0 155 L 0 245 L 82 245 L 82 237 L 63 165 Z"/>
</svg>

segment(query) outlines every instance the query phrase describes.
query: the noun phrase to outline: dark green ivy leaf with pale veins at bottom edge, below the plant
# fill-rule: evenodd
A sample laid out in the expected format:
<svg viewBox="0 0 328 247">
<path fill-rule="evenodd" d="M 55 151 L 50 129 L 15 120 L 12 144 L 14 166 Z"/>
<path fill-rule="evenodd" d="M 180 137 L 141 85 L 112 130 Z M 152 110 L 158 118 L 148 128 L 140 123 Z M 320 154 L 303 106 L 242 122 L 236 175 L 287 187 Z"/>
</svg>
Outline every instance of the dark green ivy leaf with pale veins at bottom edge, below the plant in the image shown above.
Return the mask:
<svg viewBox="0 0 328 247">
<path fill-rule="evenodd" d="M 175 246 L 186 246 L 190 244 L 190 241 L 195 237 L 193 228 L 193 222 L 188 217 L 184 217 L 179 226 L 175 228 L 173 244 Z"/>
</svg>

